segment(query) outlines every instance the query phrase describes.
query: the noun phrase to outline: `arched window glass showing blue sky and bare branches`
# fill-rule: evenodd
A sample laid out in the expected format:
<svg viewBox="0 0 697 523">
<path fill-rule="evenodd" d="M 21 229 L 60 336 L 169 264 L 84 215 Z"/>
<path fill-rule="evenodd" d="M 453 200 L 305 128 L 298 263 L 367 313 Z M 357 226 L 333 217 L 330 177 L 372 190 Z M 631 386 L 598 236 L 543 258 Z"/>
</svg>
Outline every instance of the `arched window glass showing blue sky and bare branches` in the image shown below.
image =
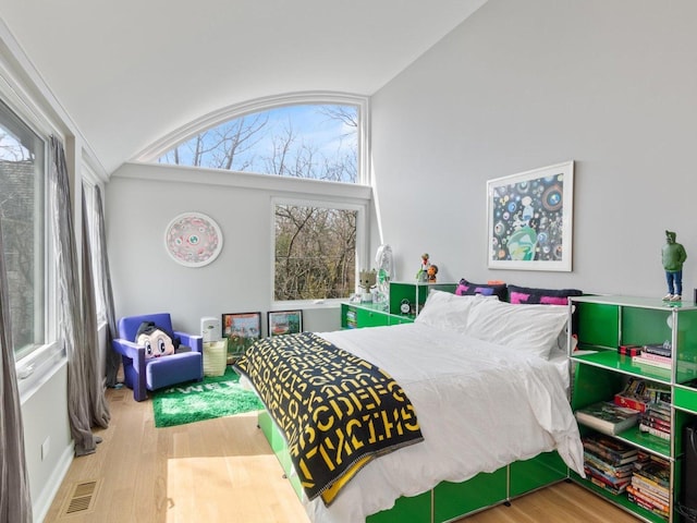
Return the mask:
<svg viewBox="0 0 697 523">
<path fill-rule="evenodd" d="M 159 163 L 358 183 L 362 106 L 265 104 L 180 142 Z"/>
</svg>

